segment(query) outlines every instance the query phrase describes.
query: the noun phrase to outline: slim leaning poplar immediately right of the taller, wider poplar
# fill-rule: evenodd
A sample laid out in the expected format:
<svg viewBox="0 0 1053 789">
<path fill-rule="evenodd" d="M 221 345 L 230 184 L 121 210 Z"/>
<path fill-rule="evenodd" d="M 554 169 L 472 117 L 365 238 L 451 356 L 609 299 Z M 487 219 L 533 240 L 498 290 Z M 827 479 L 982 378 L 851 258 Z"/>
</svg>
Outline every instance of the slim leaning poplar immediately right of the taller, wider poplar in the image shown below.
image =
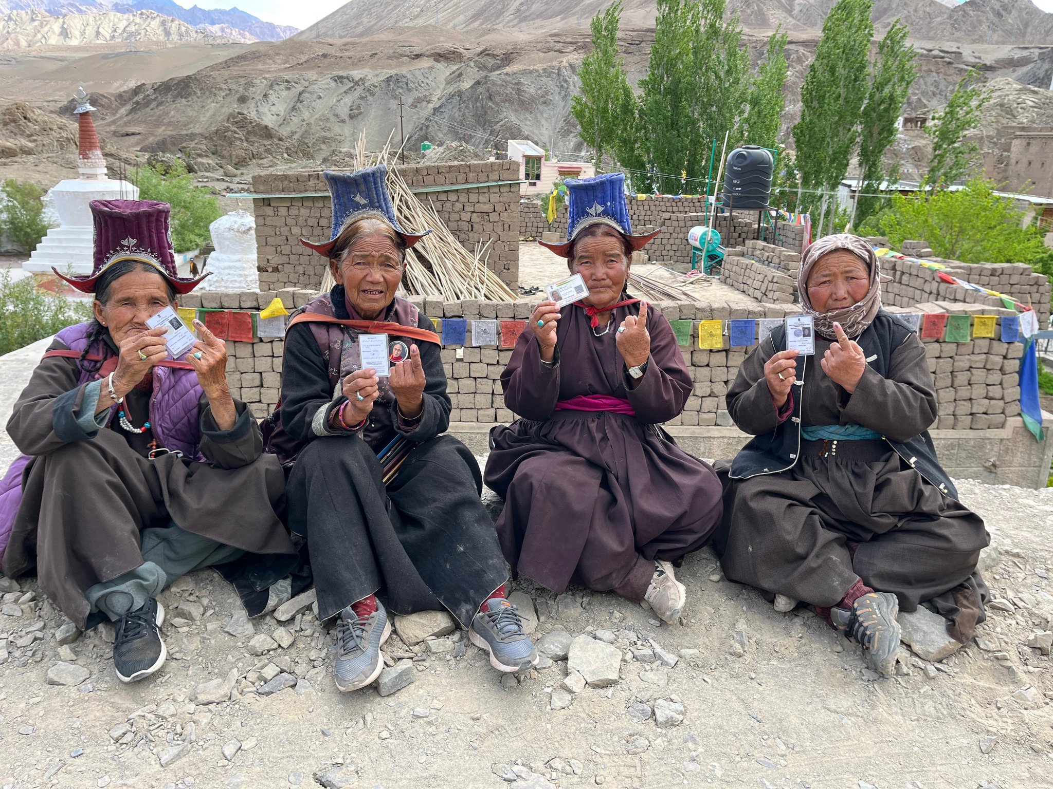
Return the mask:
<svg viewBox="0 0 1053 789">
<path fill-rule="evenodd" d="M 877 46 L 877 57 L 871 64 L 870 89 L 859 118 L 859 174 L 862 195 L 876 195 L 881 181 L 898 171 L 898 164 L 886 168 L 885 155 L 895 142 L 897 122 L 903 113 L 907 95 L 917 79 L 914 65 L 916 53 L 907 43 L 907 25 L 898 19 Z M 858 197 L 853 206 L 853 224 L 873 214 L 880 198 Z"/>
</svg>

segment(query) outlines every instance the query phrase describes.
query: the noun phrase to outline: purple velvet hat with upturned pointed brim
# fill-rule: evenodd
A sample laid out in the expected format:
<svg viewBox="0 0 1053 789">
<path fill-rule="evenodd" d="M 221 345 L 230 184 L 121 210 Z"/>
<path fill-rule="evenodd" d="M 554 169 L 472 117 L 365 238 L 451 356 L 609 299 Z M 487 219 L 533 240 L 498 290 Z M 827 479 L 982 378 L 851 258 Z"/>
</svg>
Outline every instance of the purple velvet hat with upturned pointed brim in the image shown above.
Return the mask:
<svg viewBox="0 0 1053 789">
<path fill-rule="evenodd" d="M 156 200 L 93 200 L 92 221 L 95 225 L 95 260 L 87 277 L 66 277 L 57 268 L 56 276 L 85 294 L 95 292 L 99 276 L 114 263 L 137 260 L 148 263 L 172 283 L 177 294 L 188 294 L 208 275 L 198 279 L 182 279 L 176 272 L 172 251 L 168 214 L 172 206 Z"/>
</svg>

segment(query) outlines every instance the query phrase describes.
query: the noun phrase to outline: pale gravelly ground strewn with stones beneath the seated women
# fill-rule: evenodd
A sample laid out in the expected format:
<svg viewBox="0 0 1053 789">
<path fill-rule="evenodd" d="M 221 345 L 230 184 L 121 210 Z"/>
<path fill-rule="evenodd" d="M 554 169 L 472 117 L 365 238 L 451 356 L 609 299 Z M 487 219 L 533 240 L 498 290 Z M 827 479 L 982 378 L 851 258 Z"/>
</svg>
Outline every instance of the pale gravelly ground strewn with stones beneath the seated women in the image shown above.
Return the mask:
<svg viewBox="0 0 1053 789">
<path fill-rule="evenodd" d="M 16 353 L 0 360 L 8 405 L 40 349 Z M 135 685 L 114 674 L 110 626 L 77 636 L 35 581 L 6 582 L 0 787 L 1053 786 L 1051 659 L 1027 646 L 1053 615 L 1053 490 L 959 490 L 992 532 L 998 608 L 942 661 L 905 650 L 891 679 L 810 611 L 728 582 L 709 549 L 678 571 L 689 604 L 672 627 L 612 594 L 520 583 L 550 656 L 518 679 L 428 615 L 400 622 L 408 642 L 413 626 L 440 635 L 389 641 L 389 662 L 406 662 L 386 681 L 414 682 L 384 696 L 336 690 L 334 639 L 310 605 L 246 623 L 212 571 L 162 593 L 170 660 Z M 613 684 L 565 676 L 582 634 L 603 665 L 572 653 L 573 667 Z"/>
</svg>

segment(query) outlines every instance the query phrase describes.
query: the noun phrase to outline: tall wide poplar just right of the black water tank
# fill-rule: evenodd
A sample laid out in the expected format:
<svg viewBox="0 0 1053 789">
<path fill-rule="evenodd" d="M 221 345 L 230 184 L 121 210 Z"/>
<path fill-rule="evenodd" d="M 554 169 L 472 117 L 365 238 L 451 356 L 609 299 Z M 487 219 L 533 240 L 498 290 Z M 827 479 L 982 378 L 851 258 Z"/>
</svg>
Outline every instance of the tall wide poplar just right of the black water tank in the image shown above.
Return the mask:
<svg viewBox="0 0 1053 789">
<path fill-rule="evenodd" d="M 837 189 L 848 173 L 859 140 L 874 34 L 872 7 L 872 0 L 838 0 L 831 8 L 800 92 L 800 120 L 793 127 L 797 167 L 804 206 L 814 209 L 819 203 L 819 228 L 826 218 L 827 195 Z"/>
</svg>

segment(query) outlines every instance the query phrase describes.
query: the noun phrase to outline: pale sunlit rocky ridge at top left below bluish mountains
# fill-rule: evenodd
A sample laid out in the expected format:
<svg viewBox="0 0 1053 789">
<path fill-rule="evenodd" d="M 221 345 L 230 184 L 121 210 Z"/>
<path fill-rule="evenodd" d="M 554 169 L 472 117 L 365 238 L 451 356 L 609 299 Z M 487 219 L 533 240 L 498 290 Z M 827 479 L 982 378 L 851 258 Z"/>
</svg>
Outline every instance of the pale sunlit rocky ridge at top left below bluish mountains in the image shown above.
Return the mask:
<svg viewBox="0 0 1053 789">
<path fill-rule="evenodd" d="M 232 43 L 253 39 L 233 27 L 192 27 L 152 11 L 103 12 L 53 17 L 42 11 L 15 11 L 0 16 L 0 49 L 45 44 L 76 45 L 114 41 L 199 41 Z"/>
</svg>

